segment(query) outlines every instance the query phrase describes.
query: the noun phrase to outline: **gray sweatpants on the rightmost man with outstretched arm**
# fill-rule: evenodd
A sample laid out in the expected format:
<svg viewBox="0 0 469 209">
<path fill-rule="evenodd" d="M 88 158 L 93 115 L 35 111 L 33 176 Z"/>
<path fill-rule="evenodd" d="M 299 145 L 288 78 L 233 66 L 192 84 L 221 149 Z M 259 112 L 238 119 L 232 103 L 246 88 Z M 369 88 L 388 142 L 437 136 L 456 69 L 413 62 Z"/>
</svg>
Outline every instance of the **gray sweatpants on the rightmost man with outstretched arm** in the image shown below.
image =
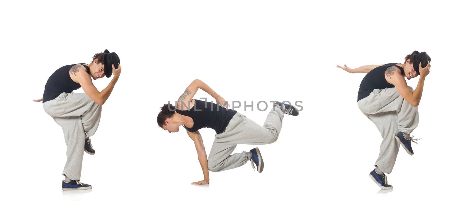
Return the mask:
<svg viewBox="0 0 469 209">
<path fill-rule="evenodd" d="M 373 121 L 383 137 L 375 166 L 381 172 L 391 173 L 400 147 L 394 136 L 402 132 L 408 138 L 417 127 L 417 107 L 401 97 L 396 88 L 386 88 L 373 90 L 368 97 L 358 101 L 358 108 Z"/>
</svg>

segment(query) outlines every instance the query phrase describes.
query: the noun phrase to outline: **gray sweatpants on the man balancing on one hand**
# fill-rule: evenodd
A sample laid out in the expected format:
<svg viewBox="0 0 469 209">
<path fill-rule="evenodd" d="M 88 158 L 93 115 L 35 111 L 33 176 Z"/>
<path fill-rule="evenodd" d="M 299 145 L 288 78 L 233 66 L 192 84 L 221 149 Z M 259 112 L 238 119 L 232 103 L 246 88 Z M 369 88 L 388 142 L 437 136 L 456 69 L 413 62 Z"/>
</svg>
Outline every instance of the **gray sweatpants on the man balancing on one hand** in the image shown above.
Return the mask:
<svg viewBox="0 0 469 209">
<path fill-rule="evenodd" d="M 250 152 L 231 154 L 237 144 L 270 144 L 279 138 L 282 128 L 283 112 L 279 107 L 273 107 L 267 114 L 264 126 L 236 112 L 225 131 L 215 134 L 215 141 L 208 157 L 208 170 L 212 172 L 225 171 L 246 164 L 250 159 Z"/>
</svg>

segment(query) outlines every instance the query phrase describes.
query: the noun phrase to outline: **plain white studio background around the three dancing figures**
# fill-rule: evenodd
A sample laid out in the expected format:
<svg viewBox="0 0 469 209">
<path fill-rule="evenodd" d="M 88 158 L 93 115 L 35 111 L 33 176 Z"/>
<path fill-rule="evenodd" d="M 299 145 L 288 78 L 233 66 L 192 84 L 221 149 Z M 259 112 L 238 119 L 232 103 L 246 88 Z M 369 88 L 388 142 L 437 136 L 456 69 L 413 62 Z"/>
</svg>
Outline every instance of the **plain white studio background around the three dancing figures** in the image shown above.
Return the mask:
<svg viewBox="0 0 469 209">
<path fill-rule="evenodd" d="M 248 208 L 464 207 L 468 192 L 467 5 L 453 1 L 12 1 L 2 3 L 0 206 Z M 464 15 L 466 14 L 466 15 Z M 32 99 L 59 67 L 109 49 L 122 73 L 103 105 L 96 155 L 62 192 L 61 127 Z M 431 58 L 413 135 L 383 193 L 368 177 L 381 137 L 358 109 L 360 67 Z M 303 101 L 249 164 L 202 180 L 193 142 L 168 134 L 159 107 L 198 78 L 228 101 Z M 109 78 L 95 81 L 98 90 Z M 418 77 L 408 81 L 416 87 Z M 77 90 L 76 92 L 83 92 Z M 198 91 L 197 97 L 210 97 Z M 267 112 L 244 111 L 259 124 Z M 200 131 L 207 154 L 215 132 Z M 236 152 L 252 149 L 239 145 Z M 6 207 L 5 207 L 6 206 Z"/>
</svg>

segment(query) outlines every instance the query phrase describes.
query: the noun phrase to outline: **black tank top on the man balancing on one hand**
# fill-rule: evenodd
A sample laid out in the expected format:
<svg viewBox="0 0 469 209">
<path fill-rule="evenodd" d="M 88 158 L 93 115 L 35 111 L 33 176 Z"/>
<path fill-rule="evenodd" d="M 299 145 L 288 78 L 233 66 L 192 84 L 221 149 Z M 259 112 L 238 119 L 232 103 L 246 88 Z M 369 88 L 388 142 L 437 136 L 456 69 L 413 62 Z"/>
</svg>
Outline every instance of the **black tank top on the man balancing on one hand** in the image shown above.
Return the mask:
<svg viewBox="0 0 469 209">
<path fill-rule="evenodd" d="M 196 132 L 201 128 L 212 128 L 217 134 L 225 131 L 230 120 L 236 111 L 227 109 L 218 104 L 195 100 L 195 104 L 190 110 L 177 110 L 176 112 L 185 116 L 189 116 L 194 120 L 191 128 L 185 127 L 189 132 Z"/>
</svg>

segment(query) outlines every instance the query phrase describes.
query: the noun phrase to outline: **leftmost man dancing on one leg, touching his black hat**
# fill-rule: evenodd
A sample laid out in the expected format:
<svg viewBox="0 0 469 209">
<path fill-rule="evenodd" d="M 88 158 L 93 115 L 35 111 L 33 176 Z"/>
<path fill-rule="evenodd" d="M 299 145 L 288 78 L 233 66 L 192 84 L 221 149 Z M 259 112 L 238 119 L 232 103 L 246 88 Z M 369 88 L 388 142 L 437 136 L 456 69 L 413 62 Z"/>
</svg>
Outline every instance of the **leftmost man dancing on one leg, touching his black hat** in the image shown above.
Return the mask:
<svg viewBox="0 0 469 209">
<path fill-rule="evenodd" d="M 67 162 L 63 169 L 65 179 L 62 190 L 91 189 L 91 185 L 80 182 L 83 150 L 94 155 L 90 137 L 96 132 L 101 117 L 101 105 L 111 95 L 121 75 L 119 56 L 115 52 L 96 53 L 90 64 L 66 65 L 56 70 L 47 80 L 44 95 L 35 102 L 43 102 L 45 112 L 62 127 L 67 144 Z M 117 68 L 115 68 L 117 67 Z M 109 85 L 99 92 L 91 78 L 110 77 Z M 85 93 L 74 93 L 83 88 Z"/>
</svg>

